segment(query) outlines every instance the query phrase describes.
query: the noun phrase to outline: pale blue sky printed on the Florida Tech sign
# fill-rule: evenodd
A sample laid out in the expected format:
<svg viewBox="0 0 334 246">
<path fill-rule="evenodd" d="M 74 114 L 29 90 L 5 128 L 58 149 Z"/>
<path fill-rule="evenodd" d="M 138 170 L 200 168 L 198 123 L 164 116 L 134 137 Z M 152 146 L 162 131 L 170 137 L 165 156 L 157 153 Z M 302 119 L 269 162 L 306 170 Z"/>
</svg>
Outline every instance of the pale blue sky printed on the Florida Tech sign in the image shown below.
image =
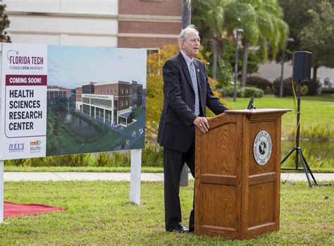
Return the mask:
<svg viewBox="0 0 334 246">
<path fill-rule="evenodd" d="M 137 81 L 146 88 L 146 49 L 48 46 L 48 85 Z"/>
</svg>

